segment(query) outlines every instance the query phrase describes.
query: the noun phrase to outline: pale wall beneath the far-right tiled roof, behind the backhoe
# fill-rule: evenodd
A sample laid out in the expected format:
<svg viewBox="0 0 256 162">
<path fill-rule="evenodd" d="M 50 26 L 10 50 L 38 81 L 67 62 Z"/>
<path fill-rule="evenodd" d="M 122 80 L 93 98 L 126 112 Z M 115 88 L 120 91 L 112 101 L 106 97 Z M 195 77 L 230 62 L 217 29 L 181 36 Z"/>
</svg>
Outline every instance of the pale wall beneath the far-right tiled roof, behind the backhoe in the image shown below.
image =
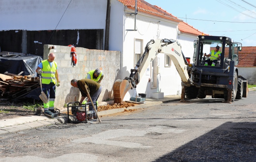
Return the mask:
<svg viewBox="0 0 256 162">
<path fill-rule="evenodd" d="M 237 67 L 238 75 L 246 78 L 248 84 L 256 84 L 256 67 Z"/>
</svg>

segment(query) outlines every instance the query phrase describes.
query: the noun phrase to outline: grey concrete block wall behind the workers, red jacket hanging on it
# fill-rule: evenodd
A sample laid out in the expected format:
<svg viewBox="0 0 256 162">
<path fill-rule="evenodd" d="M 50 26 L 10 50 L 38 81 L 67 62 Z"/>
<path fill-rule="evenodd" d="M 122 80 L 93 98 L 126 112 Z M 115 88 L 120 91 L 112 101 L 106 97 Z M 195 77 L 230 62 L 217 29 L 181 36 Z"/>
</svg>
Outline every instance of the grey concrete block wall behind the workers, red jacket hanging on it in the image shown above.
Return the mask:
<svg viewBox="0 0 256 162">
<path fill-rule="evenodd" d="M 64 104 L 80 101 L 81 94 L 78 88 L 70 85 L 72 79 L 84 79 L 87 72 L 99 68 L 104 73 L 104 78 L 100 85 L 102 92 L 98 101 L 113 99 L 113 85 L 120 75 L 120 51 L 104 51 L 95 49 L 85 49 L 76 47 L 77 64 L 73 66 L 71 47 L 56 46 L 56 49 L 50 49 L 54 45 L 44 45 L 43 59 L 48 59 L 48 54 L 54 53 L 58 65 L 59 80 L 61 86 L 56 88 L 55 107 L 63 108 Z"/>
</svg>

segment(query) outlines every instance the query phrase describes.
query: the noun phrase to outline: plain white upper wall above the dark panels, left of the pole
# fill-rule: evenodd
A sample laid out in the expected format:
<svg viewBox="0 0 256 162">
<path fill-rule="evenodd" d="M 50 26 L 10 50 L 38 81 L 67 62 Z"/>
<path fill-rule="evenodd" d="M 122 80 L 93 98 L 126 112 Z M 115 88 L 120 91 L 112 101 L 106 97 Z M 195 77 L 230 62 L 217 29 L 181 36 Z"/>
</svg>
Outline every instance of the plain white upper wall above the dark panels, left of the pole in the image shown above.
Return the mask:
<svg viewBox="0 0 256 162">
<path fill-rule="evenodd" d="M 0 30 L 54 30 L 58 23 L 57 30 L 105 29 L 107 0 L 69 2 L 70 0 L 1 0 L 0 22 L 4 25 L 1 25 Z"/>
</svg>

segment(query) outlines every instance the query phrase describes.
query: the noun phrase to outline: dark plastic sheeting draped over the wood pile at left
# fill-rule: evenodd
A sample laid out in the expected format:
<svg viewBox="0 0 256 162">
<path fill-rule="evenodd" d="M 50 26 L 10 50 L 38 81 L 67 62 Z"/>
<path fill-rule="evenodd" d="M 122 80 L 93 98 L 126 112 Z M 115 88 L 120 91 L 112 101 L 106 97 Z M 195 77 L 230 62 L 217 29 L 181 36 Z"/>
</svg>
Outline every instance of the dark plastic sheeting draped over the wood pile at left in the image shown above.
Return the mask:
<svg viewBox="0 0 256 162">
<path fill-rule="evenodd" d="M 0 55 L 0 73 L 3 74 L 6 71 L 12 74 L 21 75 L 33 75 L 36 72 L 36 68 L 42 61 L 42 57 L 35 55 L 20 55 L 20 54 L 9 54 Z"/>
</svg>

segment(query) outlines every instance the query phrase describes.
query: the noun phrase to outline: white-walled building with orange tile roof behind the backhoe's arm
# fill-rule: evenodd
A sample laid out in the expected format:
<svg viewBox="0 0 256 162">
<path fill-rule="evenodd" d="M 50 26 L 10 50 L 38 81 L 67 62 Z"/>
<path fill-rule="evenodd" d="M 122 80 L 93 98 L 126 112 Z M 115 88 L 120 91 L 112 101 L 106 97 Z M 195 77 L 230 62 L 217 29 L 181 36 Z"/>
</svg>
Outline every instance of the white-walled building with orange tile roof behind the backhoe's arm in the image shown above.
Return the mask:
<svg viewBox="0 0 256 162">
<path fill-rule="evenodd" d="M 111 6 L 109 20 L 106 20 L 107 6 Z M 135 0 L 2 0 L 0 30 L 103 29 L 103 44 L 108 37 L 108 50 L 121 52 L 121 60 L 116 60 L 120 61 L 120 69 L 110 69 L 118 71 L 120 79 L 130 76 L 130 69 L 135 67 L 151 39 L 178 40 L 183 53 L 192 61 L 194 40 L 202 32 L 144 0 L 137 0 L 136 16 L 134 12 Z M 106 36 L 107 21 L 110 25 Z M 87 38 L 78 33 L 78 47 L 82 39 Z M 38 42 L 35 40 L 35 43 Z M 152 70 L 157 66 L 159 74 L 153 75 Z M 180 76 L 164 54 L 157 56 L 154 67 L 151 64 L 147 68 L 136 88 L 137 93 L 146 93 L 147 97 L 155 92 L 176 95 L 178 91 L 181 91 Z M 124 100 L 130 100 L 133 94 L 131 89 Z"/>
</svg>

